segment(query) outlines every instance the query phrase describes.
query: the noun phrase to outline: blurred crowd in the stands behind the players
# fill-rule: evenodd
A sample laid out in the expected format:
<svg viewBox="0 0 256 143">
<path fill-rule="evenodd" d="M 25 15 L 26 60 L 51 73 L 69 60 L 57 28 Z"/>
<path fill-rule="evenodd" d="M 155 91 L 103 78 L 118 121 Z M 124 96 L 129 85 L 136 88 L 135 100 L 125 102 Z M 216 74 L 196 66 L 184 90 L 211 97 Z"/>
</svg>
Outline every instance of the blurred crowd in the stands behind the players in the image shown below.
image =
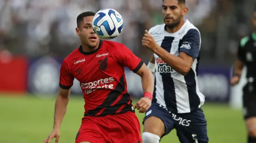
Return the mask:
<svg viewBox="0 0 256 143">
<path fill-rule="evenodd" d="M 187 0 L 185 18 L 201 32 L 203 62 L 234 60 L 239 39 L 251 31 L 255 4 L 256 0 Z M 162 0 L 0 0 L 0 53 L 64 58 L 80 44 L 77 15 L 113 8 L 124 20 L 122 34 L 113 41 L 124 43 L 146 62 L 152 53 L 142 47 L 142 36 L 145 29 L 162 23 L 161 5 Z"/>
</svg>

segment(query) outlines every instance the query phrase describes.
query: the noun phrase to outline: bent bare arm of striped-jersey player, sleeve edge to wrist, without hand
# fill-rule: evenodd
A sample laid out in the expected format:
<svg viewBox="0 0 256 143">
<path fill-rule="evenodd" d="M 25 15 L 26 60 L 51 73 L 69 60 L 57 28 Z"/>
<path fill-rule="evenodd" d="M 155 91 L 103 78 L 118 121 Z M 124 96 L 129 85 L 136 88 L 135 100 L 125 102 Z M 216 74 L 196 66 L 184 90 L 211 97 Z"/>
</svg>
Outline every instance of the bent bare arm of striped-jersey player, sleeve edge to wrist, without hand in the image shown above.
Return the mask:
<svg viewBox="0 0 256 143">
<path fill-rule="evenodd" d="M 180 52 L 180 56 L 171 55 L 164 48 L 158 46 L 154 53 L 156 53 L 165 63 L 178 73 L 185 75 L 191 69 L 193 58 L 183 51 Z"/>
</svg>

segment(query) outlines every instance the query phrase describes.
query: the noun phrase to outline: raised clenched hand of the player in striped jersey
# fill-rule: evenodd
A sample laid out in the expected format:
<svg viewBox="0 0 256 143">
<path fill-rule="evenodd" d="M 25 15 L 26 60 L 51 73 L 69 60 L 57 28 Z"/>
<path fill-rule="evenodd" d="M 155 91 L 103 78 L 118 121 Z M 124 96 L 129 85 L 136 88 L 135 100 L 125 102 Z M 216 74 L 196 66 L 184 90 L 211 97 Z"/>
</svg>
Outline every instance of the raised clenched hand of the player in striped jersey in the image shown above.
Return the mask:
<svg viewBox="0 0 256 143">
<path fill-rule="evenodd" d="M 158 45 L 156 44 L 154 37 L 150 35 L 147 30 L 145 30 L 145 34 L 142 38 L 142 45 L 152 51 L 158 48 Z"/>
</svg>

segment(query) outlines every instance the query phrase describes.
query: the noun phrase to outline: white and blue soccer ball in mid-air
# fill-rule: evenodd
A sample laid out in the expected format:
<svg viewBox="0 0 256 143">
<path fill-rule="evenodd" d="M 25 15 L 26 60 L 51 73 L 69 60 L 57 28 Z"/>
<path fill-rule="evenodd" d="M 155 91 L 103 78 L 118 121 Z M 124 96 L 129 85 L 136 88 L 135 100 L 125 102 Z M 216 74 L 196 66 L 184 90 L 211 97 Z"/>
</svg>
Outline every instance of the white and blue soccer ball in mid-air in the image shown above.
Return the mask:
<svg viewBox="0 0 256 143">
<path fill-rule="evenodd" d="M 101 9 L 92 19 L 94 32 L 103 39 L 117 37 L 123 30 L 123 18 L 114 9 Z"/>
</svg>

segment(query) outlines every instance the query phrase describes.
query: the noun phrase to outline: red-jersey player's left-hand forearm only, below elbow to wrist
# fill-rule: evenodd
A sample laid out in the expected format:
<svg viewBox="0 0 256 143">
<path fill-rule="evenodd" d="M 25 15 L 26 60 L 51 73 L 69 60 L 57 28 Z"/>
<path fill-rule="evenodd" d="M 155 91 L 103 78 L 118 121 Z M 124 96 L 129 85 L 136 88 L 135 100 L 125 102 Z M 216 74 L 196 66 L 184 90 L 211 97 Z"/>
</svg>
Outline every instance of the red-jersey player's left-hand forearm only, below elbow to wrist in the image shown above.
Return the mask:
<svg viewBox="0 0 256 143">
<path fill-rule="evenodd" d="M 67 110 L 67 103 L 69 97 L 58 95 L 56 102 L 55 102 L 55 109 L 54 109 L 54 124 L 53 128 L 60 128 L 62 120 Z"/>
</svg>

